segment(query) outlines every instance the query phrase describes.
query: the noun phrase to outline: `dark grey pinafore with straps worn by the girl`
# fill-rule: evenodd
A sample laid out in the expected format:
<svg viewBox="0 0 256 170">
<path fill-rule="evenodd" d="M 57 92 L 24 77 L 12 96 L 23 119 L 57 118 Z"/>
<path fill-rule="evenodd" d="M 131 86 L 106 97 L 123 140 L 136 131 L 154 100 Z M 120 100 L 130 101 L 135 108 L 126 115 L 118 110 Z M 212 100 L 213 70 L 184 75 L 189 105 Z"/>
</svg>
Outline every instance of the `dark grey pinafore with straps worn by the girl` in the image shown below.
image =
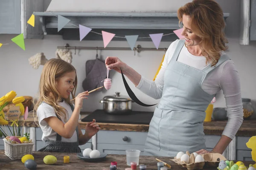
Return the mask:
<svg viewBox="0 0 256 170">
<path fill-rule="evenodd" d="M 71 110 L 74 111 L 74 106 L 70 105 Z M 58 117 L 58 115 L 56 115 Z M 60 119 L 60 117 L 58 117 Z M 61 119 L 60 119 L 61 120 Z M 67 153 L 80 153 L 79 147 L 79 133 L 78 127 L 76 127 L 77 142 L 61 142 L 61 136 L 57 133 L 56 141 L 47 140 L 45 141 L 44 147 L 38 151 L 45 152 L 67 152 Z"/>
</svg>

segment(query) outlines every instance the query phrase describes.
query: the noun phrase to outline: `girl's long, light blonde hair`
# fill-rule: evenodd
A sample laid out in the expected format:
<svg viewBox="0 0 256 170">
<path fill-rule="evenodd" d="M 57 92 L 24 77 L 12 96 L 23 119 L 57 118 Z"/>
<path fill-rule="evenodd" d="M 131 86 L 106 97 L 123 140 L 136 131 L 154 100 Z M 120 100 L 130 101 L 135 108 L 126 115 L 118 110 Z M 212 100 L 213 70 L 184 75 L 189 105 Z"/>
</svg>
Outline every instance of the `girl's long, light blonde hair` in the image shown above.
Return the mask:
<svg viewBox="0 0 256 170">
<path fill-rule="evenodd" d="M 70 63 L 62 60 L 62 59 L 49 59 L 44 65 L 43 71 L 41 73 L 39 89 L 37 97 L 34 99 L 34 113 L 36 113 L 39 105 L 42 102 L 46 102 L 54 108 L 56 115 L 64 118 L 67 121 L 67 110 L 60 105 L 58 102 L 65 100 L 69 105 L 72 105 L 70 102 L 70 97 L 68 99 L 63 99 L 61 94 L 58 91 L 56 81 L 63 77 L 64 74 L 75 71 L 76 69 Z M 75 79 L 75 85 L 73 90 L 71 91 L 71 95 L 74 98 L 74 94 L 76 94 L 76 86 L 77 86 L 77 77 Z M 35 119 L 38 119 L 37 116 L 34 116 Z"/>
</svg>

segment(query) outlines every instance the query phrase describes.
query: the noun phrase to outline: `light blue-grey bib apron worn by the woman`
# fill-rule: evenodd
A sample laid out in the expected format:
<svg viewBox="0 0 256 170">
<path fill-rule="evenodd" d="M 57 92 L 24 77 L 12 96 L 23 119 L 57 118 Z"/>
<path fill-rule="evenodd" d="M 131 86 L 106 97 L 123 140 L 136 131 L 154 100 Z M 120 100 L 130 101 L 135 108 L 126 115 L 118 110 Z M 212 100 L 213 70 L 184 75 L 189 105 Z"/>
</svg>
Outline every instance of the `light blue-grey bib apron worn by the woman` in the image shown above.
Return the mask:
<svg viewBox="0 0 256 170">
<path fill-rule="evenodd" d="M 216 67 L 198 70 L 177 61 L 184 42 L 178 42 L 166 68 L 163 95 L 149 124 L 145 155 L 176 156 L 180 151 L 206 149 L 203 122 L 215 94 L 207 94 L 201 86 L 206 75 L 229 57 L 222 55 Z"/>
</svg>

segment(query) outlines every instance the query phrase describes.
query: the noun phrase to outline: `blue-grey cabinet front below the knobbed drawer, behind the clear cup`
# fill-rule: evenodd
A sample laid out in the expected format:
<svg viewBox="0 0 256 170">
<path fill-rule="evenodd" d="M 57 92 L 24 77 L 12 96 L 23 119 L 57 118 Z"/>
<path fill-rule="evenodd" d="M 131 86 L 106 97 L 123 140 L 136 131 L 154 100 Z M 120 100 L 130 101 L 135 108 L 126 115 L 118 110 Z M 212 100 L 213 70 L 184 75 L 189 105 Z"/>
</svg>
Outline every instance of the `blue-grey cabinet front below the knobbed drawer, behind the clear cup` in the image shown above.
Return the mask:
<svg viewBox="0 0 256 170">
<path fill-rule="evenodd" d="M 144 155 L 144 145 L 132 144 L 97 144 L 97 150 L 107 154 L 126 155 L 125 150 L 137 149 L 140 150 L 140 155 Z"/>
</svg>

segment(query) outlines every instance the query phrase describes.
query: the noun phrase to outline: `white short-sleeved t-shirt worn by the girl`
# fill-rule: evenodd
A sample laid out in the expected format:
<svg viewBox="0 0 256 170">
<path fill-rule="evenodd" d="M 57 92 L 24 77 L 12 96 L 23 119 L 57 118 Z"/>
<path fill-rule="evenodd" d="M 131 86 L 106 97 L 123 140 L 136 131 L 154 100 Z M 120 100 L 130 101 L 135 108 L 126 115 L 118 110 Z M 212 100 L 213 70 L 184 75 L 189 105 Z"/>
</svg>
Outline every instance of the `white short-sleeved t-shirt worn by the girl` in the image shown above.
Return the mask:
<svg viewBox="0 0 256 170">
<path fill-rule="evenodd" d="M 66 102 L 59 102 L 58 105 L 62 106 L 63 108 L 65 108 L 67 110 L 67 112 L 68 112 L 67 120 L 69 120 L 73 113 L 73 111 L 70 108 L 70 105 L 68 105 Z M 44 120 L 45 118 L 48 118 L 51 116 L 57 117 L 52 106 L 48 105 L 45 102 L 42 102 L 41 105 L 39 105 L 36 114 L 38 116 L 39 126 L 41 127 L 41 129 L 43 131 L 42 141 L 46 141 L 46 140 L 56 141 L 57 133 L 54 130 L 52 130 L 52 128 Z M 61 121 L 63 123 L 65 123 L 64 118 L 61 118 Z M 70 139 L 61 137 L 61 141 L 62 142 L 77 142 L 76 131 L 74 132 L 73 136 Z"/>
</svg>

